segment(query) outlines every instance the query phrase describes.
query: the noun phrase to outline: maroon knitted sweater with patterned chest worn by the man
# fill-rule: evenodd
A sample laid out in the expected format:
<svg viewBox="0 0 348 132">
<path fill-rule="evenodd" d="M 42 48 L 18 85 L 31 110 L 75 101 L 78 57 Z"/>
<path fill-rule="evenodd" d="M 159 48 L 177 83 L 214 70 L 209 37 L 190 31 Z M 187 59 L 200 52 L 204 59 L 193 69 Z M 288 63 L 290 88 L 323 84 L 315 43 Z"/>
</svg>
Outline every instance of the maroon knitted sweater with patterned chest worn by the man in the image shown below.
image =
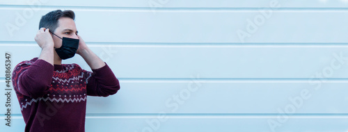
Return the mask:
<svg viewBox="0 0 348 132">
<path fill-rule="evenodd" d="M 107 97 L 120 89 L 108 65 L 92 71 L 38 58 L 19 63 L 13 69 L 13 87 L 25 131 L 84 131 L 87 95 Z"/>
</svg>

